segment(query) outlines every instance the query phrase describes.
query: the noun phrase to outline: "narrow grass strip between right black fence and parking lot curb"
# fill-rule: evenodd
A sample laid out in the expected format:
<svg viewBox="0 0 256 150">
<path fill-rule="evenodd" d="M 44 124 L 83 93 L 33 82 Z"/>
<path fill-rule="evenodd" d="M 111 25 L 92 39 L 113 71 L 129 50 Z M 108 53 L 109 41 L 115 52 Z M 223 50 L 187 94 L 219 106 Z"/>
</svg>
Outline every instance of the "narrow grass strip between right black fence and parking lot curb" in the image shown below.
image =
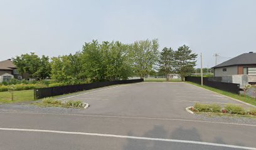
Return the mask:
<svg viewBox="0 0 256 150">
<path fill-rule="evenodd" d="M 229 93 L 229 92 L 226 92 L 226 91 L 222 91 L 220 89 L 211 88 L 209 86 L 201 86 L 200 84 L 191 83 L 191 82 L 186 82 L 186 83 L 193 84 L 195 86 L 199 86 L 201 88 L 208 89 L 208 90 L 213 91 L 215 93 L 219 93 L 219 94 L 228 96 L 230 98 L 238 99 L 239 101 L 243 101 L 245 103 L 252 104 L 252 105 L 256 106 L 256 99 L 250 98 L 249 96 L 247 96 L 247 98 L 245 98 L 245 96 L 243 96 L 243 95 L 239 96 L 238 94 Z"/>
</svg>

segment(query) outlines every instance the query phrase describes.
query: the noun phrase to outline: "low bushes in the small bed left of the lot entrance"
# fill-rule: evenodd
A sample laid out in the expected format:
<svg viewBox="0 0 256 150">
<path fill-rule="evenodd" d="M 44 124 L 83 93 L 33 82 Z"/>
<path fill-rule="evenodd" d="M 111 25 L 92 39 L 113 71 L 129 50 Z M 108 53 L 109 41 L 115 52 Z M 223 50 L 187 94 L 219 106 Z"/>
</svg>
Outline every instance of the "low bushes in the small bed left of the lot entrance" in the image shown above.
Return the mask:
<svg viewBox="0 0 256 150">
<path fill-rule="evenodd" d="M 60 100 L 56 100 L 53 98 L 44 98 L 43 104 L 52 104 L 56 106 L 64 106 L 68 108 L 84 108 L 85 104 L 82 103 L 82 101 L 67 101 L 67 102 L 61 102 Z"/>
</svg>

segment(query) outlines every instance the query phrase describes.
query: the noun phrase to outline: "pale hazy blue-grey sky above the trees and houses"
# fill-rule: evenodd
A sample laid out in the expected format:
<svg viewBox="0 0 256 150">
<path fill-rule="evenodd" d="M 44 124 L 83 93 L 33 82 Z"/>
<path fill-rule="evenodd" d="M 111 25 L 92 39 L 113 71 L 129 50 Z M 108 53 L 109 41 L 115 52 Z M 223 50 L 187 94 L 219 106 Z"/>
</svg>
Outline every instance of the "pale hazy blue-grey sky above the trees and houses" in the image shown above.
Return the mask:
<svg viewBox="0 0 256 150">
<path fill-rule="evenodd" d="M 186 44 L 203 67 L 256 52 L 255 0 L 0 0 L 0 61 L 34 52 L 59 56 L 92 39 Z M 200 57 L 198 57 L 198 67 Z"/>
</svg>

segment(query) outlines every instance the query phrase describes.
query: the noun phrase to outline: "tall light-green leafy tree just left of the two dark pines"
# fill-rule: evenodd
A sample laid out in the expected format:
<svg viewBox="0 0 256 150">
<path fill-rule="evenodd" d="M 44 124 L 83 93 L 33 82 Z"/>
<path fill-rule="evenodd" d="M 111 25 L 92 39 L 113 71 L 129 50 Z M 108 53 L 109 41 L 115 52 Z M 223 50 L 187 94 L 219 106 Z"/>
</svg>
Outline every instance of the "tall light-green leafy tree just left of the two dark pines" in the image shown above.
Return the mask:
<svg viewBox="0 0 256 150">
<path fill-rule="evenodd" d="M 133 63 L 133 69 L 137 76 L 143 79 L 147 74 L 149 74 L 154 65 L 158 61 L 158 41 L 153 39 L 149 41 L 136 41 L 132 45 L 131 49 L 131 59 Z"/>
</svg>

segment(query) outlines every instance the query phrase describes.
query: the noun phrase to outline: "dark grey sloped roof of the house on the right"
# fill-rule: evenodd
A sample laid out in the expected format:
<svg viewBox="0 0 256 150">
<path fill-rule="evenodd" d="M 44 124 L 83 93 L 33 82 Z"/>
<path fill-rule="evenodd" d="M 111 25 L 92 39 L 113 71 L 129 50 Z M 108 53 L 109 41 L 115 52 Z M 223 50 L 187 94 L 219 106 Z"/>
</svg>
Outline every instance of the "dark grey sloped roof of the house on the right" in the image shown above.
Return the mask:
<svg viewBox="0 0 256 150">
<path fill-rule="evenodd" d="M 244 65 L 244 64 L 256 64 L 256 53 L 244 53 L 239 56 L 229 59 L 213 68 L 221 68 L 227 66 L 236 66 L 236 65 Z"/>
</svg>

